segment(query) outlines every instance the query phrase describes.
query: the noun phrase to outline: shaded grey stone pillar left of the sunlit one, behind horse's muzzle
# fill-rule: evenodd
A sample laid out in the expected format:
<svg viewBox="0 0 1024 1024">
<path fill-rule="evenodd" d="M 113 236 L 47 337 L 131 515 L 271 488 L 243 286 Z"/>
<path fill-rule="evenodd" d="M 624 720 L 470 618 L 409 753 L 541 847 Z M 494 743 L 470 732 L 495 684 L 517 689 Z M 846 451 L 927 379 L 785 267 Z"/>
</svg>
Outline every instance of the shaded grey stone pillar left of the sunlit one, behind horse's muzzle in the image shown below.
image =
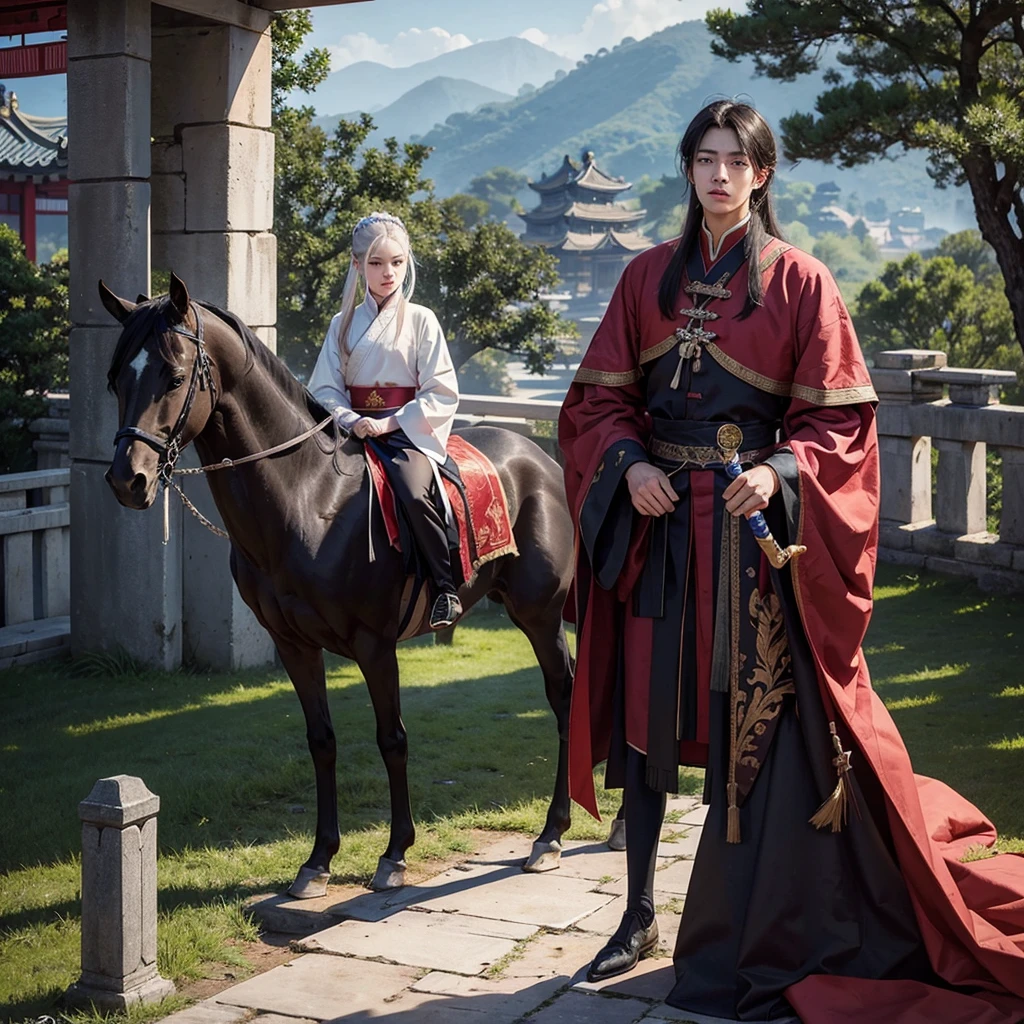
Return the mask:
<svg viewBox="0 0 1024 1024">
<path fill-rule="evenodd" d="M 72 650 L 181 656 L 180 511 L 123 509 L 103 480 L 117 430 L 106 370 L 121 332 L 96 292 L 150 290 L 150 0 L 68 5 Z"/>
</svg>

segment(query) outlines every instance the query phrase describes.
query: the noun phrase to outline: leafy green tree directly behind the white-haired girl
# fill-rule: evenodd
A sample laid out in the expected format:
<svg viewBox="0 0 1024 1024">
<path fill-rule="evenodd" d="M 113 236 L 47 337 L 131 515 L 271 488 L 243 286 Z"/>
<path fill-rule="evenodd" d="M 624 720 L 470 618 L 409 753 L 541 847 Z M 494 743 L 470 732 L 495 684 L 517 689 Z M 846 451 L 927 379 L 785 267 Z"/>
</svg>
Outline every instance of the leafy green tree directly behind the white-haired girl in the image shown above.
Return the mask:
<svg viewBox="0 0 1024 1024">
<path fill-rule="evenodd" d="M 341 302 L 352 228 L 375 209 L 406 221 L 418 264 L 416 299 L 437 313 L 456 366 L 487 347 L 522 353 L 534 372 L 550 366 L 554 338 L 571 330 L 537 298 L 557 281 L 553 257 L 524 246 L 503 223 L 483 220 L 480 197 L 438 201 L 424 176 L 427 146 L 389 138 L 367 147 L 369 115 L 341 120 L 329 135 L 310 108 L 287 106 L 280 90 L 296 81 L 296 39 L 307 23 L 290 16 L 275 20 L 275 31 L 282 24 L 288 32 L 274 57 L 274 222 L 279 351 L 292 370 L 312 369 Z M 306 88 L 324 69 L 300 70 L 299 87 Z"/>
</svg>

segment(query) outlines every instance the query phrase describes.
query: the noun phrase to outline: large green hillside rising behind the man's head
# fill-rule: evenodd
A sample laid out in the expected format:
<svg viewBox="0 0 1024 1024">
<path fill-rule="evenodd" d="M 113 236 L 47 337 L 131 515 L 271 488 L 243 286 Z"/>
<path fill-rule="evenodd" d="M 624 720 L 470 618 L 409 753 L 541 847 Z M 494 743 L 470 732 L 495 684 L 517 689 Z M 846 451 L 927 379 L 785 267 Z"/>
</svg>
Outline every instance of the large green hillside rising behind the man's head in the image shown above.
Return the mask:
<svg viewBox="0 0 1024 1024">
<path fill-rule="evenodd" d="M 564 154 L 577 158 L 593 150 L 604 170 L 635 181 L 674 173 L 682 130 L 711 99 L 754 101 L 774 128 L 782 117 L 813 110 L 823 87 L 820 74 L 794 83 L 757 78 L 751 61 L 716 57 L 702 22 L 685 22 L 620 45 L 537 93 L 456 114 L 422 139 L 434 147 L 428 173 L 438 191 L 449 195 L 495 166 L 540 177 L 557 168 Z M 937 208 L 941 199 L 920 154 L 854 170 L 805 161 L 779 171 L 814 183 L 834 180 L 862 200 L 896 197 L 900 205 Z M 952 201 L 952 195 L 942 200 L 950 208 Z"/>
</svg>

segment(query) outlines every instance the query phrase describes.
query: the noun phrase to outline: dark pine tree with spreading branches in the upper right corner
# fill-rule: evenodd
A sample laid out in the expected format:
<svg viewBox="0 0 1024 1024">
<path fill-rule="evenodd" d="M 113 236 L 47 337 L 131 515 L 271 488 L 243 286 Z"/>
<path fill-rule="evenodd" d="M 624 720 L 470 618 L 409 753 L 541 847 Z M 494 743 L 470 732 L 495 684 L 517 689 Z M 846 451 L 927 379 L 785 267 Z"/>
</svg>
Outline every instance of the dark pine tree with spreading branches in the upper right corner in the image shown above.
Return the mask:
<svg viewBox="0 0 1024 1024">
<path fill-rule="evenodd" d="M 817 116 L 783 118 L 791 160 L 869 163 L 925 150 L 941 187 L 966 183 L 1024 346 L 1024 4 L 1006 0 L 749 0 L 708 15 L 712 49 L 783 81 L 825 71 Z"/>
</svg>

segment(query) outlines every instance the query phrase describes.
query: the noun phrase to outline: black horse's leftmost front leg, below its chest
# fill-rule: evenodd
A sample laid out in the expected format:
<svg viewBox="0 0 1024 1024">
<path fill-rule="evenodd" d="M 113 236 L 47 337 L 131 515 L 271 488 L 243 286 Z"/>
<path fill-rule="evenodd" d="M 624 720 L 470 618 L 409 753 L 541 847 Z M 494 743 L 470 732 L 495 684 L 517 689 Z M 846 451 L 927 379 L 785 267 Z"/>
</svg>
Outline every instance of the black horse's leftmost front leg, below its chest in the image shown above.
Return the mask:
<svg viewBox="0 0 1024 1024">
<path fill-rule="evenodd" d="M 327 884 L 331 880 L 331 858 L 340 845 L 338 783 L 335 777 L 337 742 L 327 703 L 324 651 L 319 647 L 298 647 L 281 640 L 276 640 L 276 645 L 306 718 L 306 740 L 316 776 L 316 835 L 312 853 L 299 868 L 288 890 L 298 899 L 310 899 L 327 893 Z"/>
</svg>

